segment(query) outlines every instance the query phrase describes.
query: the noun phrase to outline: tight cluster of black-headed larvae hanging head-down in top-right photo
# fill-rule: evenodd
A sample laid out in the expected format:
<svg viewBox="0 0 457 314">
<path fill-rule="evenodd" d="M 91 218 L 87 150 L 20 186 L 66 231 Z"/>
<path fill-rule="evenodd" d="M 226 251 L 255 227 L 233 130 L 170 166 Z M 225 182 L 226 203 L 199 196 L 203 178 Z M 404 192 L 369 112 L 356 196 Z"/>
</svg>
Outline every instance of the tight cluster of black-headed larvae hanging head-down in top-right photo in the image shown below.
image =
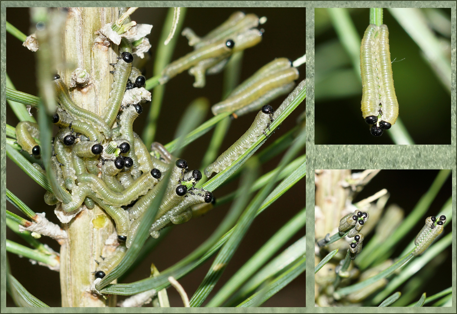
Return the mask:
<svg viewBox="0 0 457 314">
<path fill-rule="evenodd" d="M 373 124 L 374 136 L 383 134 L 397 120 L 399 104 L 393 87 L 392 63 L 387 25 L 370 24 L 360 46 L 362 78 L 362 116 Z"/>
</svg>

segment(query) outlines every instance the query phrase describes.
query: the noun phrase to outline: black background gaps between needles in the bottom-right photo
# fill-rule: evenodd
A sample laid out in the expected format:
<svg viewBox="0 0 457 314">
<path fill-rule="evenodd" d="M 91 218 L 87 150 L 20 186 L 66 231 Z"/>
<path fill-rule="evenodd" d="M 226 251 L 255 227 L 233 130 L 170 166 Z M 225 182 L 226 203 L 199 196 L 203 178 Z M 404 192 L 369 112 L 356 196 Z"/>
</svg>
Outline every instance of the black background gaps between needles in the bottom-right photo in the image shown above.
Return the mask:
<svg viewBox="0 0 457 314">
<path fill-rule="evenodd" d="M 352 172 L 360 171 L 362 170 L 352 170 Z M 406 218 L 419 202 L 420 198 L 429 190 L 439 171 L 440 170 L 381 170 L 356 196 L 353 203 L 372 196 L 374 193 L 385 188 L 390 193 L 385 208 L 388 208 L 391 204 L 397 204 L 404 209 L 404 217 Z M 414 228 L 411 229 L 409 233 L 405 235 L 404 240 L 400 241 L 399 245 L 395 247 L 391 255 L 392 257 L 401 257 L 400 254 L 403 252 L 404 248 L 409 245 L 424 226 L 425 218 L 437 216 L 450 197 L 452 197 L 452 173 L 447 177 L 446 182 L 431 203 L 428 211 L 423 217 L 419 218 L 419 221 Z M 449 224 L 448 220 L 444 231 L 439 237 L 442 238 L 450 233 L 452 233 L 452 225 Z M 367 235 L 364 242 L 368 243 L 373 234 L 374 233 L 370 233 Z M 452 246 L 448 246 L 412 277 L 428 277 L 419 290 L 420 294 L 425 292 L 427 293 L 427 296 L 430 297 L 435 293 L 439 293 L 447 287 L 452 286 L 452 276 L 440 276 L 440 280 L 436 280 L 436 276 L 439 276 L 439 274 L 451 273 Z M 400 291 L 402 294 L 406 293 L 402 289 L 407 282 L 408 281 L 398 287 L 395 291 Z M 416 300 L 420 298 L 420 294 L 417 296 Z"/>
</svg>

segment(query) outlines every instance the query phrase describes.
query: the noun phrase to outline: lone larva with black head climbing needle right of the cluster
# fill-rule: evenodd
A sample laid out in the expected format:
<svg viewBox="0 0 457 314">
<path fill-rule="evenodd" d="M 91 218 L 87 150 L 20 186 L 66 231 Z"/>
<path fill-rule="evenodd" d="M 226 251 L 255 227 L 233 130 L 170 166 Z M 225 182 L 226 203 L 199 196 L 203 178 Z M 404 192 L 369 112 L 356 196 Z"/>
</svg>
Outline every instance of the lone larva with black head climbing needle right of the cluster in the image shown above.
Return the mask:
<svg viewBox="0 0 457 314">
<path fill-rule="evenodd" d="M 224 170 L 236 160 L 239 155 L 243 154 L 246 149 L 254 143 L 257 138 L 265 133 L 265 129 L 269 127 L 272 121 L 274 110 L 271 106 L 265 105 L 254 119 L 250 128 L 244 133 L 232 146 L 223 152 L 211 165 L 205 168 L 205 176 L 209 177 L 213 172 L 218 173 Z"/>
</svg>

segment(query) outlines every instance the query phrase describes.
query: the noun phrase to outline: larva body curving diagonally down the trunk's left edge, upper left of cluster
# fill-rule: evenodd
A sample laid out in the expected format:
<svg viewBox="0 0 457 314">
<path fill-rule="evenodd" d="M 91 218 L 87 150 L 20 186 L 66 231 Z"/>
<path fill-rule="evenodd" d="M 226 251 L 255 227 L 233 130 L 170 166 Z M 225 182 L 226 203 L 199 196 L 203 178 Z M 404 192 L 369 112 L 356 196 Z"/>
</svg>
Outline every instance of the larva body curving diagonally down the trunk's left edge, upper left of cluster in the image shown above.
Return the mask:
<svg viewBox="0 0 457 314">
<path fill-rule="evenodd" d="M 94 126 L 100 132 L 103 132 L 107 138 L 111 137 L 110 127 L 105 121 L 95 113 L 85 110 L 77 106 L 70 98 L 68 88 L 62 81 L 62 79 L 54 80 L 57 98 L 60 106 L 64 109 L 71 117 L 81 122 L 89 123 Z"/>
</svg>

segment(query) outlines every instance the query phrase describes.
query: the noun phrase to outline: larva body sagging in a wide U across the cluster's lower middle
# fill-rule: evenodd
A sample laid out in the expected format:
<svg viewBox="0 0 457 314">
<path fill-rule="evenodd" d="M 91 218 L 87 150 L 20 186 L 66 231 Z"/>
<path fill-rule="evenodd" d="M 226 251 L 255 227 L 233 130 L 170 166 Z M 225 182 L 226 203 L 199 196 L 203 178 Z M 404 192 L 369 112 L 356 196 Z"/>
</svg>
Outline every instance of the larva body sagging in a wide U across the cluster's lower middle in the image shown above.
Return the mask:
<svg viewBox="0 0 457 314">
<path fill-rule="evenodd" d="M 138 178 L 132 185 L 128 186 L 123 192 L 113 192 L 108 188 L 99 177 L 92 174 L 82 174 L 78 176 L 80 183 L 85 183 L 92 188 L 96 196 L 105 204 L 122 206 L 128 205 L 136 200 L 140 195 L 144 195 L 150 188 L 157 184 L 157 179 L 150 173 L 145 173 Z"/>
</svg>

